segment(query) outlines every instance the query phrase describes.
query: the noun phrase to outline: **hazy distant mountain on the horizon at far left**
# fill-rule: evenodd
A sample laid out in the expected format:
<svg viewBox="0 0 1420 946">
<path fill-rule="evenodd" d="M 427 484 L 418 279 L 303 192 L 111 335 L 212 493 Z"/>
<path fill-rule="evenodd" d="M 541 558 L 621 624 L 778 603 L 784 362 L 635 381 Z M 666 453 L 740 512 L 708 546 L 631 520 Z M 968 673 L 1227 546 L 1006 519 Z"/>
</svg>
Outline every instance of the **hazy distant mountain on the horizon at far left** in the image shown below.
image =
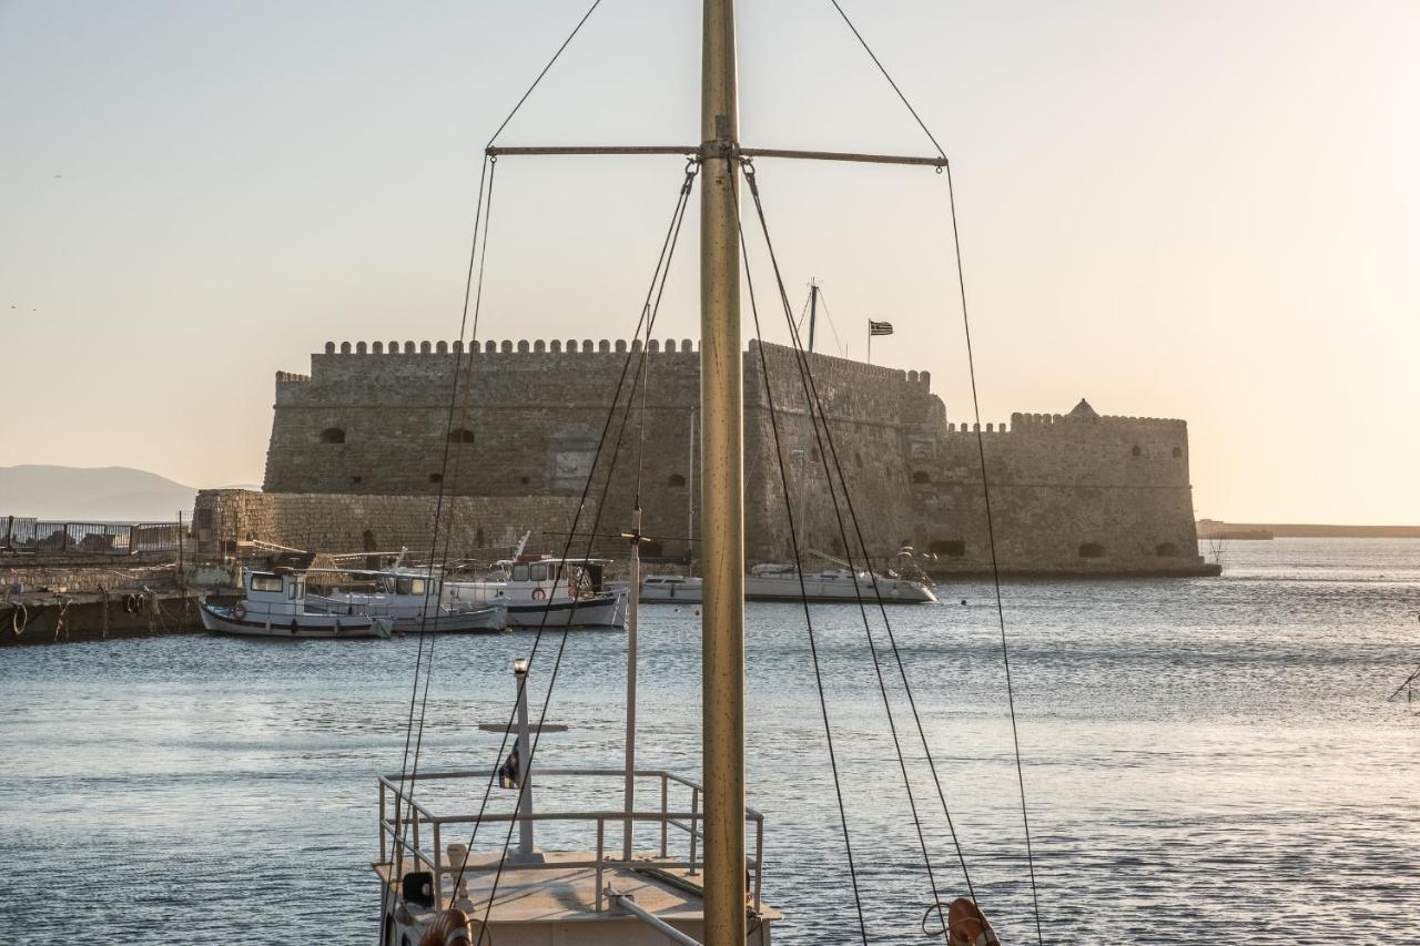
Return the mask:
<svg viewBox="0 0 1420 946">
<path fill-rule="evenodd" d="M 0 516 L 170 523 L 197 490 L 126 466 L 0 466 Z"/>
</svg>

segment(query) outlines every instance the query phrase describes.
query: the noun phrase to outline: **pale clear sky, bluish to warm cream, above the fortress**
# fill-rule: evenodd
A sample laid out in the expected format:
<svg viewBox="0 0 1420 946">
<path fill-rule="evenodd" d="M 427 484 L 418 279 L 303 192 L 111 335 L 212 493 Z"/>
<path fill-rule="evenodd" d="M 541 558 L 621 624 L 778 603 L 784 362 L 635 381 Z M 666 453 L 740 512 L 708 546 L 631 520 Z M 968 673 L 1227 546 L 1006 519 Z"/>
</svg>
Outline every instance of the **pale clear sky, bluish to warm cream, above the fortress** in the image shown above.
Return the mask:
<svg viewBox="0 0 1420 946">
<path fill-rule="evenodd" d="M 1420 3 L 842 4 L 953 161 L 983 422 L 1183 418 L 1198 516 L 1420 523 Z M 483 146 L 585 6 L 0 0 L 0 466 L 258 483 L 275 371 L 456 338 Z M 932 153 L 828 0 L 738 6 L 747 145 Z M 604 0 L 498 143 L 693 143 L 699 34 Z M 944 178 L 757 166 L 819 349 L 892 321 L 970 420 Z M 479 337 L 628 337 L 680 176 L 500 161 Z"/>
</svg>

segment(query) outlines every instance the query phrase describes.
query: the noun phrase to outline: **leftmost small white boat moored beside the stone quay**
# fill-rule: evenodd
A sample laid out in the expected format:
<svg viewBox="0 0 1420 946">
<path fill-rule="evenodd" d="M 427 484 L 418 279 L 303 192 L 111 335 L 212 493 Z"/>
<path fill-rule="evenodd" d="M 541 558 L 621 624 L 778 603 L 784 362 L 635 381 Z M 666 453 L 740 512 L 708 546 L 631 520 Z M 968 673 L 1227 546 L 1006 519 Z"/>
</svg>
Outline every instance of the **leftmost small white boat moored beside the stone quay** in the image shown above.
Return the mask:
<svg viewBox="0 0 1420 946">
<path fill-rule="evenodd" d="M 388 638 L 390 618 L 368 614 L 321 614 L 305 607 L 305 575 L 298 571 L 248 571 L 241 599 L 226 607 L 199 604 L 202 626 L 246 638 Z"/>
</svg>

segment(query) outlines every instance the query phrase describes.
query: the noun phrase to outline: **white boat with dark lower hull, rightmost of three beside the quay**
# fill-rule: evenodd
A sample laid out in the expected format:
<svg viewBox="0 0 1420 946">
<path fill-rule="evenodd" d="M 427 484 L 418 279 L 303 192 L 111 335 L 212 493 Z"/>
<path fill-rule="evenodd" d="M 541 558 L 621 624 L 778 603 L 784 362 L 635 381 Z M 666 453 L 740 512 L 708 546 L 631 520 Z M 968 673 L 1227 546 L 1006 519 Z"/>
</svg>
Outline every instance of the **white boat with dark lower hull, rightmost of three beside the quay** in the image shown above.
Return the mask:
<svg viewBox="0 0 1420 946">
<path fill-rule="evenodd" d="M 446 581 L 449 607 L 498 602 L 514 628 L 625 628 L 630 594 L 602 581 L 601 558 L 518 555 L 497 562 L 483 581 Z"/>
</svg>

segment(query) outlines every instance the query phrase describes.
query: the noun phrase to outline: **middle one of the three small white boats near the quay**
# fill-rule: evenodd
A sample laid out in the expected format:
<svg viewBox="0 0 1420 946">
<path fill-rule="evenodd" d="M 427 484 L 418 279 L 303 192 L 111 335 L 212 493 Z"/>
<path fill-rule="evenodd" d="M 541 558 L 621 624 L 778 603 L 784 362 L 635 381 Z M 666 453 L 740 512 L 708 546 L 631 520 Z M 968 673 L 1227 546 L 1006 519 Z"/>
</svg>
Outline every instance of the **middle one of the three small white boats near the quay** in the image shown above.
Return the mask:
<svg viewBox="0 0 1420 946">
<path fill-rule="evenodd" d="M 469 634 L 503 631 L 508 625 L 507 607 L 493 601 L 444 601 L 443 577 L 423 568 L 307 570 L 307 580 L 366 584 L 369 589 L 332 587 L 321 594 L 305 594 L 307 611 L 345 615 L 375 615 L 393 619 L 402 634 Z"/>
</svg>

